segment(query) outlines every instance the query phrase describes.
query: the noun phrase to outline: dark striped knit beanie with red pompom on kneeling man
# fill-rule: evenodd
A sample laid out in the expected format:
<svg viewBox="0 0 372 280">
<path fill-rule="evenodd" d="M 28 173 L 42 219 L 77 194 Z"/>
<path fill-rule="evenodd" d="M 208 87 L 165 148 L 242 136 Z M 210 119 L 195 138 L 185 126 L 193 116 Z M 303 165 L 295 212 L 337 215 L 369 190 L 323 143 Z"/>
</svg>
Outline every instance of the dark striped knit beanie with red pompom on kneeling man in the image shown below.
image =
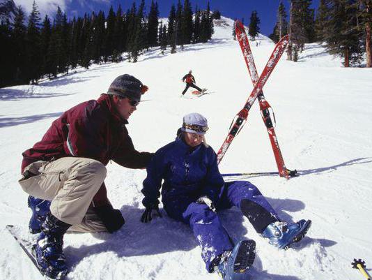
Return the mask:
<svg viewBox="0 0 372 280">
<path fill-rule="evenodd" d="M 141 101 L 141 95 L 144 94 L 146 90 L 147 87 L 144 86 L 140 80 L 131 75 L 124 74 L 118 76 L 111 82 L 107 94 L 127 97 L 134 101 Z"/>
</svg>

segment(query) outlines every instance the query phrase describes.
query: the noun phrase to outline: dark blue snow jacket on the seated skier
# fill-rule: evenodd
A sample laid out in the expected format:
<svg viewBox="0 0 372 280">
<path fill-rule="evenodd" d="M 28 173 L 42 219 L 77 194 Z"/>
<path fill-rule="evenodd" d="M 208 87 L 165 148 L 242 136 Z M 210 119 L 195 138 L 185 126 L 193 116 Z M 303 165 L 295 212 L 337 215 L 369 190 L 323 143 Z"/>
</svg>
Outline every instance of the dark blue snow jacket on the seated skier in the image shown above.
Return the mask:
<svg viewBox="0 0 372 280">
<path fill-rule="evenodd" d="M 151 159 L 142 189 L 145 196 L 142 202 L 145 207 L 158 205 L 161 187 L 163 204 L 182 198 L 196 201 L 201 196 L 208 196 L 215 202 L 222 186 L 224 179 L 218 170 L 215 151 L 203 143 L 192 148 L 181 138 L 176 138 L 157 150 Z"/>
</svg>

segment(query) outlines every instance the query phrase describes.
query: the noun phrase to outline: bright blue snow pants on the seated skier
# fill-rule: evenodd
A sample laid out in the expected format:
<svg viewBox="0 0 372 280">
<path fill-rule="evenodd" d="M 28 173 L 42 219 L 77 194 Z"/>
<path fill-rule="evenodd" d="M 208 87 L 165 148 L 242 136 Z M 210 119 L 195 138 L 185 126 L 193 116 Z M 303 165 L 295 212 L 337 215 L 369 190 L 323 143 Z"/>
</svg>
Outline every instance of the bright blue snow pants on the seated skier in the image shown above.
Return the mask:
<svg viewBox="0 0 372 280">
<path fill-rule="evenodd" d="M 233 243 L 216 212 L 205 204 L 196 203 L 195 197 L 182 196 L 163 201 L 166 213 L 177 221 L 189 224 L 194 237 L 201 246 L 201 257 L 208 272 L 212 272 L 212 261 L 224 251 L 233 249 Z M 225 183 L 215 207 L 217 211 L 238 207 L 247 216 L 258 233 L 274 221 L 279 221 L 277 212 L 264 198 L 257 187 L 247 181 Z"/>
</svg>

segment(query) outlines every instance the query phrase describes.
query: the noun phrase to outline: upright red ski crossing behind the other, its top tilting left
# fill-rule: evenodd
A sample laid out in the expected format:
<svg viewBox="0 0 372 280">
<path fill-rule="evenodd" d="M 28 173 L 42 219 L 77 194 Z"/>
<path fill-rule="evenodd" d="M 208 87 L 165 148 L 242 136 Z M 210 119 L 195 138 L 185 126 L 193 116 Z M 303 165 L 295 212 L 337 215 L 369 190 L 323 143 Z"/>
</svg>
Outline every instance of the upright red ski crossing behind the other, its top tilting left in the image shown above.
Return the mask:
<svg viewBox="0 0 372 280">
<path fill-rule="evenodd" d="M 244 25 L 239 20 L 235 22 L 235 33 L 238 38 L 240 48 L 242 49 L 242 54 L 245 59 L 245 64 L 247 64 L 247 68 L 249 71 L 249 75 L 251 77 L 251 81 L 255 85 L 258 81 L 258 73 L 256 69 L 256 64 L 254 64 L 254 58 L 251 52 L 251 47 L 249 45 L 249 40 L 248 40 L 247 33 L 245 32 Z M 286 164 L 284 163 L 284 159 L 283 159 L 283 156 L 281 155 L 281 151 L 279 147 L 279 142 L 277 140 L 277 135 L 275 134 L 274 126 L 272 124 L 272 118 L 270 116 L 271 106 L 268 103 L 268 101 L 265 100 L 263 91 L 258 93 L 258 103 L 260 105 L 260 111 L 261 111 L 261 117 L 263 119 L 263 123 L 268 129 L 272 152 L 274 152 L 274 158 L 275 158 L 275 161 L 277 162 L 279 176 L 286 177 L 287 179 L 289 177 L 296 176 L 297 171 L 289 170 L 288 168 L 286 168 Z"/>
</svg>

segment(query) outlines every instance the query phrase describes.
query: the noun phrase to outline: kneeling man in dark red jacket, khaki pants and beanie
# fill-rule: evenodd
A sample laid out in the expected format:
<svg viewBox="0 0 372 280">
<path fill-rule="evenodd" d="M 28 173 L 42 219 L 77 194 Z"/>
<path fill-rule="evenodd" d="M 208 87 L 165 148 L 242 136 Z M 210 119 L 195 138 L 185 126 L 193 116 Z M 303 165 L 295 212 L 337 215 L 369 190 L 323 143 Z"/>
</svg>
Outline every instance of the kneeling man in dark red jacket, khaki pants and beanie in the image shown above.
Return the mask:
<svg viewBox="0 0 372 280">
<path fill-rule="evenodd" d="M 51 278 L 67 274 L 63 235 L 114 231 L 123 216 L 107 198 L 105 165 L 146 168 L 153 154 L 134 149 L 127 119 L 148 87 L 121 75 L 98 100 L 76 105 L 56 119 L 40 142 L 23 155 L 20 185 L 33 211 L 29 228 L 40 233 L 34 246 L 40 271 Z"/>
</svg>

